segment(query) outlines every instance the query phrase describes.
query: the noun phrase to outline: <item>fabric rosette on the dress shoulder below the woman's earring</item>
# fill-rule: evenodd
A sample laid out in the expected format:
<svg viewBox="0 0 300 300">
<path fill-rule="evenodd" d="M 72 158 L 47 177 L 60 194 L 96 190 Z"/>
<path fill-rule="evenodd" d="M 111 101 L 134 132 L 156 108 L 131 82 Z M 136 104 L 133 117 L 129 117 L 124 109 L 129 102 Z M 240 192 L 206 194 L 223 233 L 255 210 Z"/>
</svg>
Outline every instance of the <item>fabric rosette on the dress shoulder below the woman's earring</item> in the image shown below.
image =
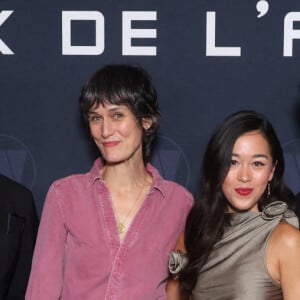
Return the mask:
<svg viewBox="0 0 300 300">
<path fill-rule="evenodd" d="M 299 228 L 299 220 L 296 214 L 288 208 L 287 203 L 283 201 L 274 201 L 263 209 L 261 216 L 264 220 L 273 220 L 282 218 L 288 223 Z"/>
</svg>

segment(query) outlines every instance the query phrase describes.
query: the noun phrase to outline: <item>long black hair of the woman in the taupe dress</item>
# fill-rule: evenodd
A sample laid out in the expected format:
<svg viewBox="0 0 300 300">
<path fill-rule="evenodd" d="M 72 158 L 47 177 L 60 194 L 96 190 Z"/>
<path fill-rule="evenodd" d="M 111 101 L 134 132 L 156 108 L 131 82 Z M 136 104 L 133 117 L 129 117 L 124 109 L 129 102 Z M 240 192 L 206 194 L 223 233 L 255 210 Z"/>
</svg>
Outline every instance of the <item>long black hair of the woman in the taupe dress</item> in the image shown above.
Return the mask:
<svg viewBox="0 0 300 300">
<path fill-rule="evenodd" d="M 215 129 L 206 147 L 202 162 L 200 194 L 186 222 L 185 247 L 189 261 L 178 279 L 182 291 L 188 294 L 194 289 L 198 276 L 201 276 L 201 269 L 213 246 L 223 235 L 227 199 L 221 187 L 230 167 L 233 146 L 241 135 L 256 130 L 268 142 L 273 165 L 276 163 L 270 182 L 271 196 L 267 197 L 267 191 L 261 195 L 259 210 L 277 200 L 291 204 L 293 193 L 283 182 L 283 152 L 271 123 L 264 115 L 250 110 L 239 111 L 227 117 Z"/>
</svg>

